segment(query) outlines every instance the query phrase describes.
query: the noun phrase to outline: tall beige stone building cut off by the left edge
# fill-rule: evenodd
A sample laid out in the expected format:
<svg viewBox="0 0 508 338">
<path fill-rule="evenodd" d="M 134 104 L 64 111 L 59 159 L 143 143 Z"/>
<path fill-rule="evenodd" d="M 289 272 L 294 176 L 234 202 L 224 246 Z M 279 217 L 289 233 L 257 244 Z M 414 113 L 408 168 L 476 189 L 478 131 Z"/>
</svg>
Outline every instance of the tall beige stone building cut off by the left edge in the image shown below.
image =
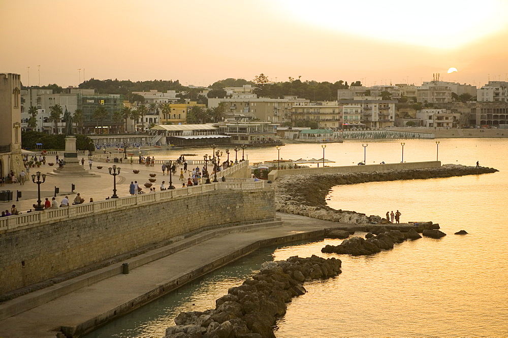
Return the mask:
<svg viewBox="0 0 508 338">
<path fill-rule="evenodd" d="M 0 73 L 0 175 L 11 171 L 18 177 L 23 170 L 21 158 L 21 77 Z"/>
</svg>

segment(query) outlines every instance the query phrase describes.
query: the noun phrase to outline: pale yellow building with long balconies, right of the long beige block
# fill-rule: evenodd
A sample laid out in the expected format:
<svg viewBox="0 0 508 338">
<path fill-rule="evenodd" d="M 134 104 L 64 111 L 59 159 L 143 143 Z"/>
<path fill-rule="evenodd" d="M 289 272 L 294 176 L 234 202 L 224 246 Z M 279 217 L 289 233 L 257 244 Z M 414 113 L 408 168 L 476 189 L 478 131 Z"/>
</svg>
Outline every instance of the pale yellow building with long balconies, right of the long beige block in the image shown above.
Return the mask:
<svg viewBox="0 0 508 338">
<path fill-rule="evenodd" d="M 288 115 L 291 120 L 312 120 L 320 128 L 341 128 L 343 105 L 337 101 L 331 102 L 299 102 L 295 103 Z"/>
</svg>

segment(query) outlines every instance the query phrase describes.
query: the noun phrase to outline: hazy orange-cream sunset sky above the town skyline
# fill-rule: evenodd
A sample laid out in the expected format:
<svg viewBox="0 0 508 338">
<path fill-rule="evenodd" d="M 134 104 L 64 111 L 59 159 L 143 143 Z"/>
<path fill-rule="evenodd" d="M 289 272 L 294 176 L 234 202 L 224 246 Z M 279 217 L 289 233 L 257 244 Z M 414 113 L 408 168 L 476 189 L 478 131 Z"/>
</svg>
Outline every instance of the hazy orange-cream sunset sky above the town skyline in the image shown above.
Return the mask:
<svg viewBox="0 0 508 338">
<path fill-rule="evenodd" d="M 0 0 L 0 72 L 37 85 L 40 65 L 41 84 L 62 86 L 83 69 L 184 85 L 260 73 L 421 84 L 440 73 L 481 86 L 508 76 L 506 13 L 508 0 Z"/>
</svg>

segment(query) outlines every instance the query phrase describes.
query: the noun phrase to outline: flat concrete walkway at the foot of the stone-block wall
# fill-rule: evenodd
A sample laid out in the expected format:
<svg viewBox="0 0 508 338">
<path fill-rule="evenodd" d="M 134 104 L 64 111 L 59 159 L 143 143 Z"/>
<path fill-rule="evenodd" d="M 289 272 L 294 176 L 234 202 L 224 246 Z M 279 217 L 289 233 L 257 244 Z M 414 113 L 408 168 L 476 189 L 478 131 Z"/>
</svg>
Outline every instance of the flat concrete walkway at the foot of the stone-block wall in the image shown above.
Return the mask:
<svg viewBox="0 0 508 338">
<path fill-rule="evenodd" d="M 107 267 L 117 269 L 113 277 L 0 321 L 0 336 L 54 337 L 59 330 L 63 330 L 66 335 L 80 335 L 261 246 L 323 238 L 326 228 L 346 228 L 353 225 L 283 213 L 277 213 L 277 216 L 282 219 L 281 225 L 280 222 L 271 225 L 260 223 L 239 226 L 236 231 L 210 230 L 209 239 L 200 243 L 193 242 L 193 236 L 186 239 L 189 241 L 186 248 L 131 269 L 128 275 L 120 274 L 120 263 Z M 219 233 L 213 233 L 215 231 Z M 196 236 L 203 236 L 203 233 Z M 179 243 L 181 242 L 172 245 Z M 147 259 L 146 256 L 165 249 L 167 247 L 159 248 L 126 262 Z M 90 274 L 101 274 L 101 270 Z M 82 278 L 77 277 L 75 280 Z M 72 285 L 73 282 L 70 280 L 65 283 Z M 54 287 L 57 286 L 55 284 Z M 23 300 L 26 301 L 30 297 L 40 296 L 41 292 L 47 290 L 39 290 L 19 298 L 25 297 Z M 7 301 L 0 307 L 20 301 L 19 298 Z"/>
</svg>

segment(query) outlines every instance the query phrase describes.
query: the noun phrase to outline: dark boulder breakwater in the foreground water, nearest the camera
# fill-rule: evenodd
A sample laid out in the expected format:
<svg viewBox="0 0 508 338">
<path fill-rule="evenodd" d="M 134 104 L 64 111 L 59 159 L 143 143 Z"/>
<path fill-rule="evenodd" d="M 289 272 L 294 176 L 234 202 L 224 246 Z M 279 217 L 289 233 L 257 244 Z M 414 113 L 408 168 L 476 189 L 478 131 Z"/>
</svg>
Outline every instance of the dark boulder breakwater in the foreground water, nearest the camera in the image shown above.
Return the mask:
<svg viewBox="0 0 508 338">
<path fill-rule="evenodd" d="M 273 325 L 292 297 L 304 294 L 304 282 L 337 276 L 341 261 L 312 255 L 265 262 L 261 271 L 228 290 L 215 309 L 181 312 L 167 337 L 274 337 Z"/>
</svg>

